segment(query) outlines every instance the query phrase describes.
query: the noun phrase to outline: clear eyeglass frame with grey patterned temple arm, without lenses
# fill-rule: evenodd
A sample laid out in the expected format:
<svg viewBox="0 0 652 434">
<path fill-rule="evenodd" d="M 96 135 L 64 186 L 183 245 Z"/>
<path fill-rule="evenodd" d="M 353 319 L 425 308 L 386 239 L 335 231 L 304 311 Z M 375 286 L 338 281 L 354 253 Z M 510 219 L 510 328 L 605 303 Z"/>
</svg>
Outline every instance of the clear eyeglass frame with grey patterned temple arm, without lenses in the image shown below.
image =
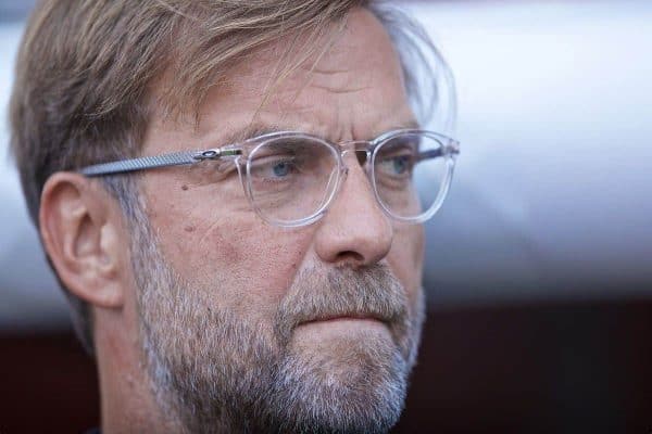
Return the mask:
<svg viewBox="0 0 652 434">
<path fill-rule="evenodd" d="M 441 144 L 441 146 L 436 150 L 419 152 L 418 156 L 422 156 L 422 158 L 418 159 L 442 156 L 446 158 L 447 164 L 447 171 L 442 180 L 437 199 L 426 212 L 415 217 L 398 216 L 386 206 L 378 193 L 378 188 L 376 186 L 375 164 L 372 164 L 373 162 L 375 162 L 378 150 L 381 149 L 381 145 L 384 143 L 402 135 L 423 135 L 437 141 Z M 337 156 L 338 176 L 336 180 L 336 186 L 329 193 L 328 199 L 324 201 L 324 204 L 309 217 L 293 221 L 272 220 L 271 218 L 265 216 L 265 214 L 258 207 L 255 203 L 250 181 L 251 155 L 255 155 L 256 151 L 261 146 L 267 144 L 269 141 L 284 137 L 292 139 L 304 138 L 313 141 L 319 141 L 322 144 L 326 144 L 328 148 L 330 148 L 331 151 L 334 151 L 333 153 Z M 244 151 L 247 146 L 251 145 L 254 146 L 247 154 Z M 389 217 L 399 221 L 408 224 L 422 224 L 430 219 L 441 208 L 443 200 L 448 195 L 453 177 L 455 158 L 457 154 L 460 154 L 460 142 L 439 132 L 425 129 L 396 129 L 387 131 L 373 140 L 352 140 L 340 143 L 334 143 L 318 136 L 288 130 L 268 132 L 261 136 L 252 137 L 244 141 L 226 144 L 218 148 L 211 148 L 206 150 L 171 152 L 153 156 L 141 156 L 137 158 L 120 159 L 109 163 L 95 164 L 79 169 L 78 173 L 86 177 L 101 177 L 108 175 L 120 175 L 133 171 L 149 170 L 162 167 L 193 165 L 204 161 L 218 161 L 223 157 L 230 157 L 233 158 L 233 162 L 238 170 L 238 177 L 240 178 L 240 182 L 242 183 L 244 194 L 247 195 L 251 207 L 259 215 L 259 217 L 261 217 L 265 222 L 273 226 L 278 226 L 283 228 L 297 228 L 311 225 L 319 220 L 324 216 L 324 214 L 333 203 L 335 196 L 337 195 L 338 191 L 340 190 L 341 186 L 343 184 L 347 178 L 349 168 L 344 164 L 343 157 L 347 153 L 350 152 L 365 152 L 365 165 L 367 166 L 365 171 L 367 178 L 372 183 L 376 203 L 380 205 L 383 212 Z M 435 153 L 437 153 L 437 155 Z M 241 157 L 243 156 L 247 157 L 244 167 L 242 167 L 243 163 L 241 161 Z M 243 168 L 246 169 L 246 177 L 242 176 Z"/>
</svg>

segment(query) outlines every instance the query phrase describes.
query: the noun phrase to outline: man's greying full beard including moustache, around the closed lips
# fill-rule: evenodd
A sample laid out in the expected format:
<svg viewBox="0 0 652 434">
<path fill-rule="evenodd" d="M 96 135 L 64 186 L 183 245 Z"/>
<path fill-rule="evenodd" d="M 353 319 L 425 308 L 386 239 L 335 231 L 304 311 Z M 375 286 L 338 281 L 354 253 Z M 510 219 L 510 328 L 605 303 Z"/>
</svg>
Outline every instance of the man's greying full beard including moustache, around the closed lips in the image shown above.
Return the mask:
<svg viewBox="0 0 652 434">
<path fill-rule="evenodd" d="M 135 230 L 143 362 L 163 413 L 183 431 L 385 433 L 396 424 L 416 358 L 423 291 L 411 310 L 386 267 L 304 270 L 274 324 L 249 323 L 175 276 L 147 225 Z M 338 340 L 337 354 L 291 344 L 302 321 L 352 311 L 384 318 L 393 342 L 358 333 Z"/>
</svg>

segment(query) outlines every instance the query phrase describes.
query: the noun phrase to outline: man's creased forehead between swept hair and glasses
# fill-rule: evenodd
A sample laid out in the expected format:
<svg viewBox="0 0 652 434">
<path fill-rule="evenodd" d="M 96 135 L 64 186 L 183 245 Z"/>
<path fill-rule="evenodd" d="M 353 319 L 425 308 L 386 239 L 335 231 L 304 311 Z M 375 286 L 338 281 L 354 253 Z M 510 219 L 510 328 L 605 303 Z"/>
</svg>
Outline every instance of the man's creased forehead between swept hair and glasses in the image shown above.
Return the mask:
<svg viewBox="0 0 652 434">
<path fill-rule="evenodd" d="M 414 124 L 399 56 L 371 12 L 352 11 L 302 59 L 309 43 L 291 35 L 249 55 L 208 93 L 193 136 L 218 143 L 267 125 L 353 140 Z"/>
</svg>

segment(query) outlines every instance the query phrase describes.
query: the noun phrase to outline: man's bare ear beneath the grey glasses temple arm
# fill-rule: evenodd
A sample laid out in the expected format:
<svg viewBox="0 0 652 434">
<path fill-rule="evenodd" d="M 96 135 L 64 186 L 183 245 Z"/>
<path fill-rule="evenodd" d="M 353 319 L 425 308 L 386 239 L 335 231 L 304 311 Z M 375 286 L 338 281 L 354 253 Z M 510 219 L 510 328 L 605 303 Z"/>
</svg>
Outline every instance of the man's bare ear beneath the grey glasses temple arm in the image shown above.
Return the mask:
<svg viewBox="0 0 652 434">
<path fill-rule="evenodd" d="M 68 291 L 93 306 L 123 306 L 127 243 L 122 214 L 99 182 L 73 173 L 52 175 L 41 193 L 39 227 Z"/>
</svg>

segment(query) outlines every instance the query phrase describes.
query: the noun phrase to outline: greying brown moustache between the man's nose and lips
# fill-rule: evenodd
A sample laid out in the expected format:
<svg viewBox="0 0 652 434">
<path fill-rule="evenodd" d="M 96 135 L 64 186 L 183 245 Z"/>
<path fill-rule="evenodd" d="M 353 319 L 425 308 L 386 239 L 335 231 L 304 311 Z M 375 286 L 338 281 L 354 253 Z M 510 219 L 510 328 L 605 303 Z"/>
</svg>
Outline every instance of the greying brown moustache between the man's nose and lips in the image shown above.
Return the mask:
<svg viewBox="0 0 652 434">
<path fill-rule="evenodd" d="M 394 341 L 409 328 L 403 285 L 387 266 L 299 271 L 276 311 L 275 331 L 288 343 L 300 324 L 337 317 L 373 318 L 384 322 Z"/>
</svg>

